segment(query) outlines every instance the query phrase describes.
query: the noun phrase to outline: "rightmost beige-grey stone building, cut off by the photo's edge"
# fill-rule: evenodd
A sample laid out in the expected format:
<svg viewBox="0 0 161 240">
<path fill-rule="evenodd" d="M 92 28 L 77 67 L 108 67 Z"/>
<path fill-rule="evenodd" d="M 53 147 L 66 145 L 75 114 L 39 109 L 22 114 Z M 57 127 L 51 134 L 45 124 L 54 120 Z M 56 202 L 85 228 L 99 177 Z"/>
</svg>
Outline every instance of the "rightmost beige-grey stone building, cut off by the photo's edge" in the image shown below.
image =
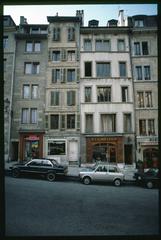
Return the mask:
<svg viewBox="0 0 161 240">
<path fill-rule="evenodd" d="M 135 95 L 136 160 L 149 168 L 158 164 L 157 16 L 136 15 L 129 17 L 128 23 Z"/>
</svg>

